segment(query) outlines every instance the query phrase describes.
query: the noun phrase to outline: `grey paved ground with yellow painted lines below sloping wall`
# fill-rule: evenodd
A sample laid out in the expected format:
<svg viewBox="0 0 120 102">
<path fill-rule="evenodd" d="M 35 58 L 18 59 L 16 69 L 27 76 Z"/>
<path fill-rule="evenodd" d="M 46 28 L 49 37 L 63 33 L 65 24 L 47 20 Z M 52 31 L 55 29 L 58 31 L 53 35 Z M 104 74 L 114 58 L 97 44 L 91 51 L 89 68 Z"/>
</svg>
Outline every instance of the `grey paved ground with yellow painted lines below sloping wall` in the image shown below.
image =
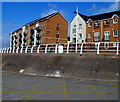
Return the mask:
<svg viewBox="0 0 120 102">
<path fill-rule="evenodd" d="M 3 72 L 3 100 L 118 100 L 118 83 Z M 27 102 L 27 101 L 26 101 Z"/>
</svg>

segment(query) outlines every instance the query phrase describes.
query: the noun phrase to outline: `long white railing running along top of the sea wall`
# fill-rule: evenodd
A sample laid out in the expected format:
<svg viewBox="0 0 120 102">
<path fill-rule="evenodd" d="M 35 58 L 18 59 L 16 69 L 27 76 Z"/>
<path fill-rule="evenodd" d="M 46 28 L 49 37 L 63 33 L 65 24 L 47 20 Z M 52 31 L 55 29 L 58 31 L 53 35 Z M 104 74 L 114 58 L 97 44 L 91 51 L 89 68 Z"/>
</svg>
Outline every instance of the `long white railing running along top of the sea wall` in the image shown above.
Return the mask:
<svg viewBox="0 0 120 102">
<path fill-rule="evenodd" d="M 3 48 L 0 53 L 79 53 L 79 54 L 116 54 L 120 53 L 120 42 L 84 42 L 64 44 L 41 44 L 32 47 Z M 76 52 L 77 51 L 77 52 Z"/>
</svg>

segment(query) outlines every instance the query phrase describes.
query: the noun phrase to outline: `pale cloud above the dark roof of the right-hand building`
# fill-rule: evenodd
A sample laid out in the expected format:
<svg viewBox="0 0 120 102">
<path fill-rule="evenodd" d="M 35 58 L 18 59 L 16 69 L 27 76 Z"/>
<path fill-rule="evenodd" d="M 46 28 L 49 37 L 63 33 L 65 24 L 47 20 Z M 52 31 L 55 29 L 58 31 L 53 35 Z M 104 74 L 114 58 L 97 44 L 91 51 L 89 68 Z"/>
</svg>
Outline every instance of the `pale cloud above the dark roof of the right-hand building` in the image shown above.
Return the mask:
<svg viewBox="0 0 120 102">
<path fill-rule="evenodd" d="M 118 10 L 118 2 L 111 3 L 108 7 L 103 7 L 98 10 L 97 5 L 93 4 L 90 9 L 87 9 L 87 12 L 91 14 L 101 14 L 106 12 L 112 12 Z"/>
</svg>

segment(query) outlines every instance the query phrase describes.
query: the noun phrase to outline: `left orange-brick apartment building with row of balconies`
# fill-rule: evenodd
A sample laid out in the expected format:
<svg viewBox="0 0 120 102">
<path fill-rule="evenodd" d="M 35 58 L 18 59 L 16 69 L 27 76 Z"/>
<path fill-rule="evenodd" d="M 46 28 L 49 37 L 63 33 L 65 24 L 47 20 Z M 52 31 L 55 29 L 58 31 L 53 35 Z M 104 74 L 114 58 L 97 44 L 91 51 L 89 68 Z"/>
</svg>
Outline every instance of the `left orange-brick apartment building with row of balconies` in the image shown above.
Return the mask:
<svg viewBox="0 0 120 102">
<path fill-rule="evenodd" d="M 63 44 L 68 41 L 68 22 L 61 13 L 53 13 L 25 24 L 11 34 L 10 47 Z"/>
</svg>

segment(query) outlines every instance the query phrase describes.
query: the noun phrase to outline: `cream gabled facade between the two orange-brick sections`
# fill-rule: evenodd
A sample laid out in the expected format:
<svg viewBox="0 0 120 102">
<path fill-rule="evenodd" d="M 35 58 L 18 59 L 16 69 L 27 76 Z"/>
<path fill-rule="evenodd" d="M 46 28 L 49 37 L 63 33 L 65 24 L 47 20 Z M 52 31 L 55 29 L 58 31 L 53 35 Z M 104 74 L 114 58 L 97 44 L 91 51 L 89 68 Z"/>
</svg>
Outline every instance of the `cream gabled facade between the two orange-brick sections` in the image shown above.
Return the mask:
<svg viewBox="0 0 120 102">
<path fill-rule="evenodd" d="M 85 42 L 86 39 L 86 22 L 84 19 L 85 17 L 86 16 L 82 14 L 76 13 L 76 16 L 70 23 L 70 42 L 73 43 L 76 43 L 76 41 L 78 43 Z"/>
</svg>

